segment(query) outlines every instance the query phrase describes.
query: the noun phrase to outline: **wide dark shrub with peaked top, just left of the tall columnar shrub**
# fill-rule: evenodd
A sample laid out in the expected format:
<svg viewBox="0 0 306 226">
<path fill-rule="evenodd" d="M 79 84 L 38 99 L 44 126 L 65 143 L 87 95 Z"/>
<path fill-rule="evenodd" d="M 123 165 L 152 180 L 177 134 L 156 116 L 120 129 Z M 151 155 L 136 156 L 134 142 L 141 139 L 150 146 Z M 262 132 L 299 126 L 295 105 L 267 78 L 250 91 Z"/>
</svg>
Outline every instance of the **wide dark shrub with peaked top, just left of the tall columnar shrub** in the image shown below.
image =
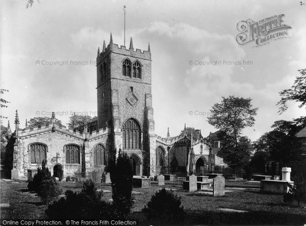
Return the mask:
<svg viewBox="0 0 306 226">
<path fill-rule="evenodd" d="M 112 206 L 101 200 L 103 195 L 96 191 L 94 183 L 87 180 L 81 192 L 67 190 L 66 197 L 48 205 L 45 213 L 50 219 L 97 219 L 107 218 Z"/>
</svg>

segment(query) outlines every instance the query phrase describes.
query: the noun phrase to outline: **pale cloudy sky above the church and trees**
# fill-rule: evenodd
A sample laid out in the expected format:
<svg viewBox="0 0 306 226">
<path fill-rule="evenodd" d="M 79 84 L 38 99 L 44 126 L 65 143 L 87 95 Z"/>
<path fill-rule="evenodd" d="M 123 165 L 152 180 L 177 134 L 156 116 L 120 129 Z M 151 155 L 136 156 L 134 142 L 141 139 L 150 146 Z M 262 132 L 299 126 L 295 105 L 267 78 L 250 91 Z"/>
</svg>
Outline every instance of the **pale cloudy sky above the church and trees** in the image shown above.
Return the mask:
<svg viewBox="0 0 306 226">
<path fill-rule="evenodd" d="M 179 135 L 186 123 L 208 136 L 217 130 L 207 122 L 211 107 L 230 95 L 258 108 L 254 126 L 242 131 L 252 141 L 274 121 L 305 116 L 299 103 L 289 102 L 282 115 L 276 104 L 306 68 L 306 1 L 34 0 L 27 8 L 25 0 L 3 0 L 1 89 L 11 102 L 1 109 L 3 124 L 14 128 L 16 109 L 20 128 L 52 111 L 63 125 L 74 111 L 96 116 L 97 48 L 109 44 L 110 33 L 124 45 L 124 5 L 127 48 L 130 37 L 134 48 L 150 43 L 156 134 L 165 137 L 169 127 Z M 240 21 L 282 14 L 291 26 L 284 38 L 237 42 Z"/>
</svg>

